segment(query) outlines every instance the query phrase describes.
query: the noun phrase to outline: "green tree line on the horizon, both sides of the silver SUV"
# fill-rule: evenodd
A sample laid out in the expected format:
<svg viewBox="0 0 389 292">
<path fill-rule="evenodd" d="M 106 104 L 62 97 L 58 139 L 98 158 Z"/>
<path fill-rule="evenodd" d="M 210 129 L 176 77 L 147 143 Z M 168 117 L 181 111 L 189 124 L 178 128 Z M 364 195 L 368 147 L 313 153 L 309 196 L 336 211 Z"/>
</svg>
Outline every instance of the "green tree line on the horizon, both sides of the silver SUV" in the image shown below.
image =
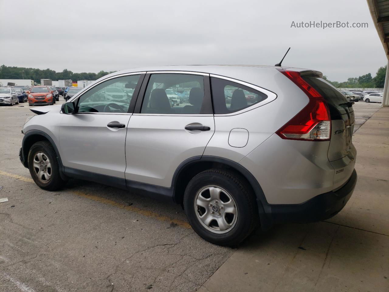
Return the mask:
<svg viewBox="0 0 389 292">
<path fill-rule="evenodd" d="M 64 69 L 62 72 L 56 72 L 51 69 L 36 69 L 36 68 L 23 68 L 23 67 L 7 67 L 5 65 L 0 66 L 0 79 L 32 79 L 35 82 L 39 82 L 40 79 L 72 79 L 77 80 L 97 80 L 104 75 L 115 71 L 106 72 L 101 70 L 98 73 L 94 72 L 81 72 L 74 73 L 68 69 Z M 371 74 L 365 74 L 359 77 L 350 77 L 347 81 L 329 81 L 326 76 L 323 76 L 329 83 L 337 88 L 383 88 L 385 83 L 386 65 L 380 67 L 377 70 L 375 77 L 371 77 Z"/>
</svg>

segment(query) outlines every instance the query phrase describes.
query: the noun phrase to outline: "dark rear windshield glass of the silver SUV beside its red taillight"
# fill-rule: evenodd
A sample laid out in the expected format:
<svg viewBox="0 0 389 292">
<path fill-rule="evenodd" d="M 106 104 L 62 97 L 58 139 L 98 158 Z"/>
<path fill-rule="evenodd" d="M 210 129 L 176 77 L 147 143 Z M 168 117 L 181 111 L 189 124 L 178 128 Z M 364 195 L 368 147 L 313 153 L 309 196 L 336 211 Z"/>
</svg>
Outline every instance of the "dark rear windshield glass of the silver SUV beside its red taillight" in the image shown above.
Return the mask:
<svg viewBox="0 0 389 292">
<path fill-rule="evenodd" d="M 331 118 L 336 118 L 339 114 L 350 113 L 352 107 L 348 107 L 349 100 L 345 97 L 335 86 L 328 83 L 323 78 L 301 76 L 307 81 L 315 90 L 319 91 L 322 97 L 326 100 Z"/>
</svg>

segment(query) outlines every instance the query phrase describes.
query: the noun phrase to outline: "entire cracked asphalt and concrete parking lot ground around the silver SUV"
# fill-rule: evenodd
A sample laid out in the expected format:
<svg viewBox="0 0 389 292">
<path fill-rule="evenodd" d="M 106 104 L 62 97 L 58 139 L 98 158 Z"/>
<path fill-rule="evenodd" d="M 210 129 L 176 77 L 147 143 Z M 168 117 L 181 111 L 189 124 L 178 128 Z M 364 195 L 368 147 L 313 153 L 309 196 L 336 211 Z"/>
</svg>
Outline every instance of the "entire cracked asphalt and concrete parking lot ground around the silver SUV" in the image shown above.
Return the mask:
<svg viewBox="0 0 389 292">
<path fill-rule="evenodd" d="M 354 104 L 359 181 L 345 209 L 257 230 L 238 249 L 201 239 L 175 204 L 74 179 L 41 190 L 18 157 L 28 104 L 2 106 L 0 290 L 387 291 L 389 115 L 380 105 Z"/>
</svg>

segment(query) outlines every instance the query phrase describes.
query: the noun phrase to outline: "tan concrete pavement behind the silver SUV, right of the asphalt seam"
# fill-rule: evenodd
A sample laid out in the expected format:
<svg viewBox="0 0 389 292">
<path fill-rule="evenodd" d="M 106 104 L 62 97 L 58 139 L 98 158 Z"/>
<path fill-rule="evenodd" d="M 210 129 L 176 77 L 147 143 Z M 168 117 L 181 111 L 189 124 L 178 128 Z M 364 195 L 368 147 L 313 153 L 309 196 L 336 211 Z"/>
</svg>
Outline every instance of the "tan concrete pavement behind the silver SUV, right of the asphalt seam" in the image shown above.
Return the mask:
<svg viewBox="0 0 389 292">
<path fill-rule="evenodd" d="M 198 291 L 389 291 L 389 108 L 353 143 L 358 181 L 338 215 L 257 232 Z"/>
</svg>

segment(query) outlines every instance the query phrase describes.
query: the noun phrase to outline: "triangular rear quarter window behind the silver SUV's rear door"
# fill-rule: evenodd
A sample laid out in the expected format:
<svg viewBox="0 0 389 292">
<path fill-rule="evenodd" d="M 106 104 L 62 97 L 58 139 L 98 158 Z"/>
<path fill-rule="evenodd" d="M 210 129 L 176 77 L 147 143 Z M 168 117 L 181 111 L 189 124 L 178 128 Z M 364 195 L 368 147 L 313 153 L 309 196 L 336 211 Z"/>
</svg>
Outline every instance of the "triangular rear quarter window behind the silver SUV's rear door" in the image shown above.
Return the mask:
<svg viewBox="0 0 389 292">
<path fill-rule="evenodd" d="M 229 80 L 211 78 L 215 114 L 230 114 L 267 99 L 263 92 Z"/>
</svg>

